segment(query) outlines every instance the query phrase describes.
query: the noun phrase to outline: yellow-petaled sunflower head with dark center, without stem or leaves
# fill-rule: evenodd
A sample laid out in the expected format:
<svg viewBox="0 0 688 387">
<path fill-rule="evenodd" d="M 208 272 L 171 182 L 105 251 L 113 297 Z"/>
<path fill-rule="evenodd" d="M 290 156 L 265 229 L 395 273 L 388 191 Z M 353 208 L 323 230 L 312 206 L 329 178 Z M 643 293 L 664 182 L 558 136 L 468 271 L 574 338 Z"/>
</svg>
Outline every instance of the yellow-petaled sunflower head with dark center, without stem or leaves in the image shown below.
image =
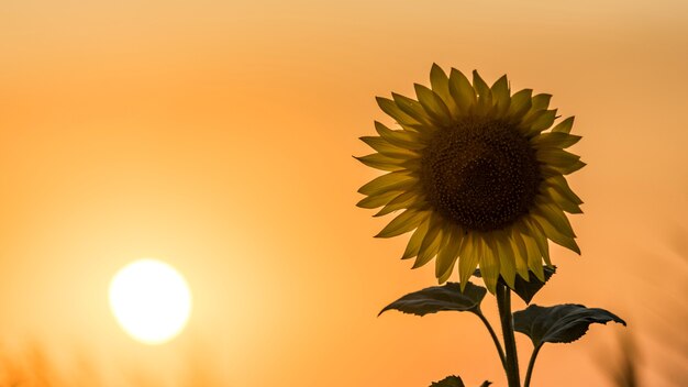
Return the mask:
<svg viewBox="0 0 688 387">
<path fill-rule="evenodd" d="M 564 177 L 585 166 L 565 151 L 580 140 L 574 118 L 552 128 L 552 96 L 511 95 L 507 76 L 489 87 L 474 70 L 471 85 L 433 65 L 430 82 L 414 85 L 418 100 L 377 98 L 399 128 L 375 122 L 378 135 L 360 137 L 376 152 L 356 158 L 387 174 L 360 187 L 357 206 L 402 210 L 376 236 L 413 231 L 402 259 L 417 268 L 436 258 L 441 284 L 457 263 L 462 286 L 479 267 L 491 292 L 500 276 L 510 287 L 529 272 L 544 281 L 547 240 L 580 254 L 565 214 L 582 203 Z"/>
</svg>

